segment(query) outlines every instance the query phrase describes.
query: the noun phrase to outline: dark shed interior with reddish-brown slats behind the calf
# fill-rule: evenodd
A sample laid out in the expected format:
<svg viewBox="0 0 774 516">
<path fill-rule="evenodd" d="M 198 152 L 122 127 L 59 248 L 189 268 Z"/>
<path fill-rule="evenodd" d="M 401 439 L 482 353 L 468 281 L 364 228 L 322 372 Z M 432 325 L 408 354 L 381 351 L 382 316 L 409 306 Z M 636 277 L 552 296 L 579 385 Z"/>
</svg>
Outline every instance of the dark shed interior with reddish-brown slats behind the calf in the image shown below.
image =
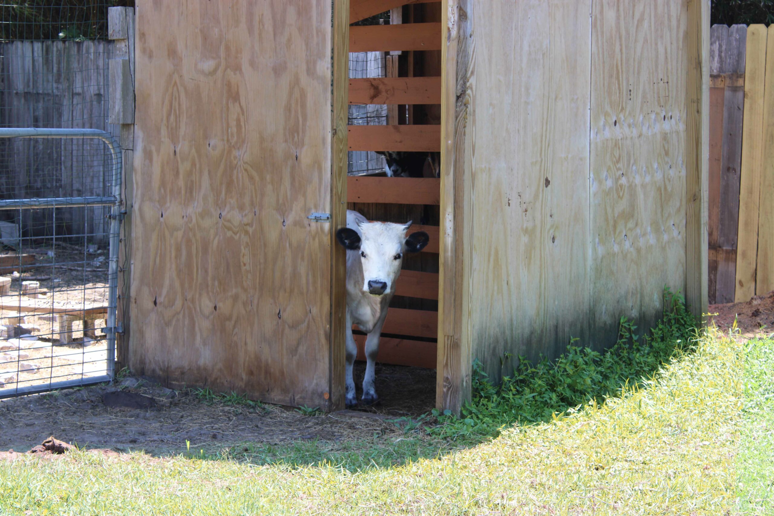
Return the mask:
<svg viewBox="0 0 774 516">
<path fill-rule="evenodd" d="M 436 406 L 440 225 L 441 3 L 352 2 L 349 39 L 348 209 L 368 220 L 426 231 L 430 244 L 406 254 L 382 330 L 376 367 L 377 405 L 356 410 L 420 415 Z M 402 155 L 398 162 L 383 153 Z M 354 381 L 361 395 L 365 333 Z"/>
</svg>

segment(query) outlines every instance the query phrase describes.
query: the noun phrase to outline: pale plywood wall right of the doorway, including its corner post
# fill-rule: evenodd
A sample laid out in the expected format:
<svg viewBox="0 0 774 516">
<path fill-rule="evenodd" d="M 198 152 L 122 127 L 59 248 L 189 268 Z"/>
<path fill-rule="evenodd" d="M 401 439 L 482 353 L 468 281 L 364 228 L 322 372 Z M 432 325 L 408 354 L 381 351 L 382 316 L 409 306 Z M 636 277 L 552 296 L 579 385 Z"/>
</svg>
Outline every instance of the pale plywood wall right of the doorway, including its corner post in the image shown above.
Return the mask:
<svg viewBox="0 0 774 516">
<path fill-rule="evenodd" d="M 701 289 L 690 4 L 448 2 L 440 403 L 464 399 L 467 349 L 498 378 L 506 353 L 608 346 L 621 316 L 656 320 L 665 285 Z"/>
</svg>

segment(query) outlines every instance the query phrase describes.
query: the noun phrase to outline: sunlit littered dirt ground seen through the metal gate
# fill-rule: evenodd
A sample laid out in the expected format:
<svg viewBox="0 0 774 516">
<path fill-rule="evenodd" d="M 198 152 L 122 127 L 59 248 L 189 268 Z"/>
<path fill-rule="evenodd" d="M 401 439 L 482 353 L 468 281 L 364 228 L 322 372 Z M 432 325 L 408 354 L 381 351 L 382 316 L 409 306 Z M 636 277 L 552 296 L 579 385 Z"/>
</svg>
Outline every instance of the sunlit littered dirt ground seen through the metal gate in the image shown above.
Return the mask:
<svg viewBox="0 0 774 516">
<path fill-rule="evenodd" d="M 3 274 L 12 279 L 11 297 L 5 296 L 10 302 L 3 299 L 5 306 L 14 306 L 17 300 L 19 306 L 30 302 L 43 306 L 65 303 L 78 308 L 108 304 L 107 251 L 85 254 L 83 248 L 57 243 L 55 248 L 48 246 L 25 252 L 35 255 L 35 264 L 22 267 L 21 274 L 11 274 L 11 271 Z M 43 293 L 36 298 L 22 296 L 24 281 L 39 282 Z M 98 328 L 105 325 L 104 319 L 95 323 Z M 84 339 L 80 320 L 73 323 L 71 343 L 60 341 L 60 327 L 51 314 L 2 309 L 0 325 L 10 326 L 0 337 L 2 390 L 106 373 L 105 335 L 98 330 L 93 339 Z"/>
</svg>

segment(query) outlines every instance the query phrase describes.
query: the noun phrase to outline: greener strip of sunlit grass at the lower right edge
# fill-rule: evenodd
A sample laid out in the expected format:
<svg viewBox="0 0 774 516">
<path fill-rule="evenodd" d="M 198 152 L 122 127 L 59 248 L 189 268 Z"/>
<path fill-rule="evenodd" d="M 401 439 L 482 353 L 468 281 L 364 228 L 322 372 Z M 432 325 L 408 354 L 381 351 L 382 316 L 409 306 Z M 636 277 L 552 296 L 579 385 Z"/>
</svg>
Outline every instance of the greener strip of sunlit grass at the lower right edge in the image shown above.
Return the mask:
<svg viewBox="0 0 774 516">
<path fill-rule="evenodd" d="M 740 510 L 774 514 L 774 340 L 746 343 L 738 471 Z"/>
</svg>

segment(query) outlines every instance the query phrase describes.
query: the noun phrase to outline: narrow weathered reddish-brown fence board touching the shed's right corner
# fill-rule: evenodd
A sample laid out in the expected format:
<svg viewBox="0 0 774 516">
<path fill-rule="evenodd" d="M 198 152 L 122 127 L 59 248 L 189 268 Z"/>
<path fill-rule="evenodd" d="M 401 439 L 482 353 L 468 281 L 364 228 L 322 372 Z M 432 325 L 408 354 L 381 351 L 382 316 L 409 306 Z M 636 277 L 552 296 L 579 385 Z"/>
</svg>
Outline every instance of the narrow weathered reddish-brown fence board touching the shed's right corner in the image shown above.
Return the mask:
<svg viewBox="0 0 774 516">
<path fill-rule="evenodd" d="M 728 42 L 728 26 L 714 25 L 710 32 L 710 77 L 716 79 L 710 87 L 710 168 L 707 240 L 710 248 L 717 248 L 720 227 L 721 160 L 723 157 L 723 104 L 725 97 L 723 56 Z M 709 302 L 715 302 L 717 261 L 709 261 Z"/>
</svg>

